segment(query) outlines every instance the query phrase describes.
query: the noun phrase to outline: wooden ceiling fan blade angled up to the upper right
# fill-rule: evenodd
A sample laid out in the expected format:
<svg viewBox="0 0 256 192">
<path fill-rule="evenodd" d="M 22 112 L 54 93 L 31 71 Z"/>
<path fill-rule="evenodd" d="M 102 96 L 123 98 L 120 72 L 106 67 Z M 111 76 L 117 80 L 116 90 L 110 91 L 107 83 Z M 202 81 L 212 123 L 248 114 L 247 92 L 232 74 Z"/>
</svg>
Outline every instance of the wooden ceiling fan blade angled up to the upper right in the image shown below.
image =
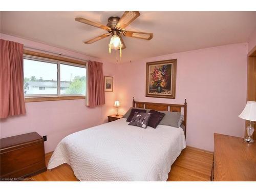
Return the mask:
<svg viewBox="0 0 256 192">
<path fill-rule="evenodd" d="M 118 29 L 124 29 L 126 26 L 131 24 L 138 16 L 140 16 L 139 11 L 125 11 L 119 19 L 116 27 Z"/>
</svg>

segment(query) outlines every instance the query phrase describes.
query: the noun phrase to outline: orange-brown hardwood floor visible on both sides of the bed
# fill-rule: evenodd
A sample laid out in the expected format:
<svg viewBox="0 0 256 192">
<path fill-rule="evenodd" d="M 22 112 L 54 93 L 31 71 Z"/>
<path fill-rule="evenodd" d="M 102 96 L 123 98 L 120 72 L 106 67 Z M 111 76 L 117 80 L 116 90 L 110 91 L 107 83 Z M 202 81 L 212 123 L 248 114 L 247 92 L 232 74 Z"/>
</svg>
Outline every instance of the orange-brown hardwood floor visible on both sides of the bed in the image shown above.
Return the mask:
<svg viewBox="0 0 256 192">
<path fill-rule="evenodd" d="M 46 155 L 46 164 L 52 153 Z M 210 181 L 213 154 L 187 147 L 176 159 L 167 181 Z M 34 181 L 78 181 L 68 164 L 62 164 L 47 172 L 30 177 Z"/>
</svg>

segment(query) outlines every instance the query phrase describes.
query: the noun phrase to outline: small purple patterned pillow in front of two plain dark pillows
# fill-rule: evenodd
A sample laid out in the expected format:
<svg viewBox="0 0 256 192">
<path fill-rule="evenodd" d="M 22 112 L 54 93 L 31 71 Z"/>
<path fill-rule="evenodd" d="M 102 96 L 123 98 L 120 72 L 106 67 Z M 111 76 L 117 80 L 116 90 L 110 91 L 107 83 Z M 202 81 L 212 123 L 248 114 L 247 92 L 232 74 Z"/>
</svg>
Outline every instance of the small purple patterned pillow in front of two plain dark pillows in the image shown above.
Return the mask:
<svg viewBox="0 0 256 192">
<path fill-rule="evenodd" d="M 138 113 L 135 112 L 129 125 L 139 126 L 144 129 L 147 127 L 147 123 L 150 120 L 151 113 Z"/>
</svg>

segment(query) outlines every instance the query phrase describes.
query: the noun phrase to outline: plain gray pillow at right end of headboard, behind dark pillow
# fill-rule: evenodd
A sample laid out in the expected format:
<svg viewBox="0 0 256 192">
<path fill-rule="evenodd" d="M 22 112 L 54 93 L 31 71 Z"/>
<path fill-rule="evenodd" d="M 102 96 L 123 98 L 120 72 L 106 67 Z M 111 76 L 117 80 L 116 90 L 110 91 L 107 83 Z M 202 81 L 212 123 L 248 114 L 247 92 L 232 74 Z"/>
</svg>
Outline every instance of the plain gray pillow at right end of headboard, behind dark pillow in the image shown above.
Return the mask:
<svg viewBox="0 0 256 192">
<path fill-rule="evenodd" d="M 165 116 L 159 124 L 180 127 L 183 115 L 180 112 L 161 111 Z"/>
</svg>

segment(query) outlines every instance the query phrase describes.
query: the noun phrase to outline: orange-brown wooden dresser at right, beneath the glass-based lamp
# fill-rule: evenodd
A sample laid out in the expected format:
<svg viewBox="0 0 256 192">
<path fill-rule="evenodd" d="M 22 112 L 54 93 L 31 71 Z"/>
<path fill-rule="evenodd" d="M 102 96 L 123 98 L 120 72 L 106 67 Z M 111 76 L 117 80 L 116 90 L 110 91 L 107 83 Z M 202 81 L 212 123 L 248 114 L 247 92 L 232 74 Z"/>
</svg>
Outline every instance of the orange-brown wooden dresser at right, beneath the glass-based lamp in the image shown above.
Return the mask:
<svg viewBox="0 0 256 192">
<path fill-rule="evenodd" d="M 256 143 L 214 134 L 212 181 L 256 181 Z"/>
</svg>

